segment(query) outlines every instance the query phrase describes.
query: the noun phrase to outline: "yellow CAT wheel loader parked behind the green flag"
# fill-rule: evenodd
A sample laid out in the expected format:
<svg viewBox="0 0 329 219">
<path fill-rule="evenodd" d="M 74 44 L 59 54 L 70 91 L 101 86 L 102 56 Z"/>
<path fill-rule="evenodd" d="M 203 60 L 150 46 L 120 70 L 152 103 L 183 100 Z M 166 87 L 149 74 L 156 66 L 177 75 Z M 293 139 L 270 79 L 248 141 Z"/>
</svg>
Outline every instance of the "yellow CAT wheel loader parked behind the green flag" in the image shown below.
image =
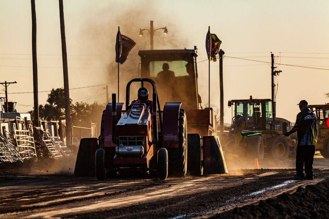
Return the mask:
<svg viewBox="0 0 329 219">
<path fill-rule="evenodd" d="M 271 99 L 236 99 L 228 101 L 234 107 L 232 125 L 224 142 L 226 154 L 264 159 L 272 157 L 285 160 L 294 156 L 296 140 L 290 137 L 267 133 L 283 134 L 291 129 L 291 122 L 283 118 L 274 118 L 273 101 Z M 251 137 L 241 136 L 240 130 L 262 131 L 265 134 Z M 225 133 L 225 132 L 224 132 Z"/>
</svg>

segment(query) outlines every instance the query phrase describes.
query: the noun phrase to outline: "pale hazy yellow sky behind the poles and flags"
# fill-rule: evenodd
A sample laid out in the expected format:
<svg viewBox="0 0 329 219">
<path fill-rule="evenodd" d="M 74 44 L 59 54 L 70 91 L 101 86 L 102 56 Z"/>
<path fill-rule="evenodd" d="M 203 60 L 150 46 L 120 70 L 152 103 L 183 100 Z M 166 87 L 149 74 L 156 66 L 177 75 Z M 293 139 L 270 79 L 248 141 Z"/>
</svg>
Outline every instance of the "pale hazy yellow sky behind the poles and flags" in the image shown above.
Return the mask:
<svg viewBox="0 0 329 219">
<path fill-rule="evenodd" d="M 225 55 L 270 62 L 270 52 L 282 73 L 278 77 L 277 116 L 294 122 L 296 104 L 329 102 L 329 71 L 284 66 L 303 65 L 329 69 L 329 1 L 87 1 L 64 0 L 65 34 L 70 88 L 110 83 L 116 72 L 115 36 L 121 33 L 137 42 L 124 71 L 137 74 L 139 49 L 149 49 L 149 35 L 139 37 L 139 28 L 167 26 L 168 35 L 156 32 L 155 49 L 184 49 L 197 46 L 198 61 L 206 59 L 208 26 L 222 40 Z M 39 91 L 63 87 L 59 6 L 56 0 L 36 0 Z M 0 1 L 1 82 L 17 81 L 9 93 L 32 92 L 31 2 Z M 281 57 L 280 57 L 281 56 Z M 281 65 L 279 65 L 281 63 Z M 211 62 L 211 105 L 219 107 L 219 62 Z M 231 122 L 230 99 L 270 98 L 271 69 L 266 63 L 234 58 L 223 59 L 224 121 Z M 126 66 L 126 69 L 125 67 Z M 127 66 L 133 66 L 127 68 Z M 136 68 L 135 68 L 136 66 Z M 208 62 L 198 63 L 199 93 L 208 102 Z M 134 74 L 135 74 L 134 73 Z M 105 102 L 104 86 L 70 91 L 73 101 Z M 2 88 L 1 88 L 2 89 Z M 116 86 L 110 86 L 110 93 Z M 4 91 L 0 90 L 0 96 Z M 33 93 L 9 94 L 16 109 L 33 107 Z M 122 96 L 121 96 L 122 97 Z M 47 93 L 39 93 L 44 104 Z"/>
</svg>

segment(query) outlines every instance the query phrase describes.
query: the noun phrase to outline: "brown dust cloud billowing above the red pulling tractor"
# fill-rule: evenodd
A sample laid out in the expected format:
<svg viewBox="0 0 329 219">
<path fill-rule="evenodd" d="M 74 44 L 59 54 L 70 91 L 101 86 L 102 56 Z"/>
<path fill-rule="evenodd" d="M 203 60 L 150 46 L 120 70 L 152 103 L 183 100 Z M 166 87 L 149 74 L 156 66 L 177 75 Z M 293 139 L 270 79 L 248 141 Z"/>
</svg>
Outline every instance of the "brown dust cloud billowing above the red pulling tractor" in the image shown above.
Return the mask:
<svg viewBox="0 0 329 219">
<path fill-rule="evenodd" d="M 109 11 L 120 11 L 117 15 Z M 96 14 L 96 16 L 95 16 Z M 102 78 L 104 83 L 110 83 L 109 93 L 117 93 L 118 65 L 115 62 L 115 40 L 120 27 L 120 32 L 136 42 L 135 47 L 130 51 L 127 60 L 119 65 L 120 68 L 120 102 L 125 100 L 125 88 L 129 80 L 139 77 L 139 50 L 150 49 L 150 34 L 143 31 L 144 36 L 139 36 L 139 29 L 150 29 L 150 20 L 154 21 L 154 29 L 167 27 L 168 34 L 164 35 L 163 30 L 154 33 L 154 49 L 184 49 L 187 46 L 186 37 L 182 37 L 178 24 L 173 18 L 162 15 L 156 9 L 153 2 L 148 2 L 147 7 L 137 9 L 122 9 L 119 6 L 100 9 L 94 12 L 93 16 L 86 18 L 86 24 L 81 30 L 79 41 L 82 47 L 81 53 L 101 54 L 104 64 L 104 71 L 97 77 Z M 133 85 L 132 85 L 133 86 Z M 136 98 L 137 86 L 131 88 L 131 99 Z M 103 88 L 99 88 L 99 93 Z"/>
</svg>

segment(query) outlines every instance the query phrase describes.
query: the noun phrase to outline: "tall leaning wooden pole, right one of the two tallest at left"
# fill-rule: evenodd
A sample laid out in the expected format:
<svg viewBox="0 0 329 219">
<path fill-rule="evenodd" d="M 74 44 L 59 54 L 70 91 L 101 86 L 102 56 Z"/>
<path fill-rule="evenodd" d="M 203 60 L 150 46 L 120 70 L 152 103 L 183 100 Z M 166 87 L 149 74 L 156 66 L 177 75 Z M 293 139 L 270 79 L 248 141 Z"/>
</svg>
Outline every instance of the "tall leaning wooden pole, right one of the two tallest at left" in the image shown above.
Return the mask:
<svg viewBox="0 0 329 219">
<path fill-rule="evenodd" d="M 69 88 L 68 88 L 67 54 L 66 54 L 63 0 L 59 0 L 59 6 L 60 6 L 60 24 L 61 24 L 63 76 L 64 76 L 66 145 L 70 145 L 70 144 L 72 144 L 72 141 L 71 141 L 71 138 L 72 138 L 72 135 L 71 135 L 71 119 L 70 119 L 71 114 L 70 114 L 70 94 L 69 94 Z"/>
</svg>

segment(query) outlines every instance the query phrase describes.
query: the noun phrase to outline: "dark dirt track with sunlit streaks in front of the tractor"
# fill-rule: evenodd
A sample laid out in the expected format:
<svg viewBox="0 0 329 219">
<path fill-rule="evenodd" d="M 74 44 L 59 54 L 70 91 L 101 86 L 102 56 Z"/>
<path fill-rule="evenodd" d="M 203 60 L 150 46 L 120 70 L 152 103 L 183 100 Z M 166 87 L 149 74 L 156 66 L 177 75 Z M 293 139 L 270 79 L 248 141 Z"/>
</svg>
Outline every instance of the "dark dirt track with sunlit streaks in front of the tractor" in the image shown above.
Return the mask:
<svg viewBox="0 0 329 219">
<path fill-rule="evenodd" d="M 0 216 L 5 218 L 181 218 L 211 217 L 313 181 L 291 181 L 294 171 L 242 170 L 239 175 L 185 179 L 77 178 L 72 175 L 0 177 Z"/>
</svg>

